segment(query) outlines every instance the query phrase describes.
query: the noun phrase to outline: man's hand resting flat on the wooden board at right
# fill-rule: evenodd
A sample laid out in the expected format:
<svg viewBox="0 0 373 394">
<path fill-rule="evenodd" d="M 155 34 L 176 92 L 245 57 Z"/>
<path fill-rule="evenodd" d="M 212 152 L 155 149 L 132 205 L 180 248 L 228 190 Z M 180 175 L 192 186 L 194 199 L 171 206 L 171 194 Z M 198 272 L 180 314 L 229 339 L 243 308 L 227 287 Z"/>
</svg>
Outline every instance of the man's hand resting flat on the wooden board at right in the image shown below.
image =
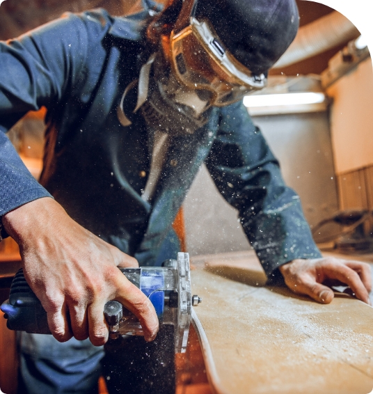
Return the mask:
<svg viewBox="0 0 373 394">
<path fill-rule="evenodd" d="M 280 267 L 280 272 L 290 290 L 307 294 L 322 304 L 329 304 L 334 298 L 333 290 L 326 283 L 347 285 L 357 299 L 370 304 L 372 277 L 370 265 L 365 262 L 329 257 L 297 259 Z"/>
</svg>

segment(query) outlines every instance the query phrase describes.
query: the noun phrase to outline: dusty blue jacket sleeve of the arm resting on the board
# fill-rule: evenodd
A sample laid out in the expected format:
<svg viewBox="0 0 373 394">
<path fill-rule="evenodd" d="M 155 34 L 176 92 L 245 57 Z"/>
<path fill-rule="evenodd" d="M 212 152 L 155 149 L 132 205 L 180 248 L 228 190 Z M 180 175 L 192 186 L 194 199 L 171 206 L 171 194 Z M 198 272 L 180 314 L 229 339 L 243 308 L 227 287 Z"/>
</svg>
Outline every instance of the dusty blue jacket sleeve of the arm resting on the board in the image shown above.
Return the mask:
<svg viewBox="0 0 373 394">
<path fill-rule="evenodd" d="M 220 110 L 219 132 L 206 160 L 216 187 L 239 212 L 269 279 L 296 258 L 321 257 L 299 196 L 283 181 L 278 161 L 243 104 Z"/>
</svg>

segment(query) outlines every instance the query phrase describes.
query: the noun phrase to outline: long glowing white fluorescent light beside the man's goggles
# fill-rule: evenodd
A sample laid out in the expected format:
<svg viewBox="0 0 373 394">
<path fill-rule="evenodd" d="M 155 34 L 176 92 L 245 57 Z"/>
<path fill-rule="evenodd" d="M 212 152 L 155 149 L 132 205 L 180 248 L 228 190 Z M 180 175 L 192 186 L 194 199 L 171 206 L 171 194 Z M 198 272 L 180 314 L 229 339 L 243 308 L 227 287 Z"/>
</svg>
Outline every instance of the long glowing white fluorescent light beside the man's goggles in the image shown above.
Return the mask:
<svg viewBox="0 0 373 394">
<path fill-rule="evenodd" d="M 274 95 L 248 95 L 244 97 L 244 105 L 248 108 L 318 104 L 324 101 L 324 93 L 316 92 L 281 93 Z"/>
</svg>

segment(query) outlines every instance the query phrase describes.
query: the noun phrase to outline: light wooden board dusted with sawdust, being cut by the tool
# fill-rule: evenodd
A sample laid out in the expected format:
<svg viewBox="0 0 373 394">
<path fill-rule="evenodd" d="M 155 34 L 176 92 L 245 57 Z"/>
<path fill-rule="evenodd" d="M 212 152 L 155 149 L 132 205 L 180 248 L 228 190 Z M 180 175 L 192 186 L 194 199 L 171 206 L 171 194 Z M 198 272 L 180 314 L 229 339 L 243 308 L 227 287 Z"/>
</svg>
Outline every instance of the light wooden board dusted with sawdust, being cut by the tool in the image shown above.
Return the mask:
<svg viewBox="0 0 373 394">
<path fill-rule="evenodd" d="M 205 267 L 214 266 L 213 256 L 206 257 Z M 216 266 L 222 265 L 219 259 Z M 234 265 L 235 258 L 230 260 Z M 244 265 L 241 258 L 236 260 Z M 193 325 L 214 393 L 372 391 L 370 306 L 342 294 L 329 305 L 317 304 L 285 288 L 256 285 L 256 279 L 250 279 L 250 263 L 242 271 L 241 282 L 246 277 L 251 285 L 206 269 L 191 272 L 193 294 L 203 297 L 193 308 Z M 257 276 L 258 266 L 253 271 Z"/>
</svg>

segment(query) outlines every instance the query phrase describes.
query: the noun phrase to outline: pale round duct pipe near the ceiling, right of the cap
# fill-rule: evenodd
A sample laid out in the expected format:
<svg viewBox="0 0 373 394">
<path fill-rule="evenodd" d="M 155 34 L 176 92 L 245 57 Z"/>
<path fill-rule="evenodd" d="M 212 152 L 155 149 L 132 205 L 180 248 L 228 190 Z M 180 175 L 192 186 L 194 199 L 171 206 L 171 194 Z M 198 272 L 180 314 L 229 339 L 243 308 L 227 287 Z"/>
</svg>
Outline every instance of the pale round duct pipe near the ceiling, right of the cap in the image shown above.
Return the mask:
<svg viewBox="0 0 373 394">
<path fill-rule="evenodd" d="M 347 17 L 337 11 L 299 28 L 296 38 L 273 68 L 292 65 L 354 40 L 360 35 Z"/>
</svg>

